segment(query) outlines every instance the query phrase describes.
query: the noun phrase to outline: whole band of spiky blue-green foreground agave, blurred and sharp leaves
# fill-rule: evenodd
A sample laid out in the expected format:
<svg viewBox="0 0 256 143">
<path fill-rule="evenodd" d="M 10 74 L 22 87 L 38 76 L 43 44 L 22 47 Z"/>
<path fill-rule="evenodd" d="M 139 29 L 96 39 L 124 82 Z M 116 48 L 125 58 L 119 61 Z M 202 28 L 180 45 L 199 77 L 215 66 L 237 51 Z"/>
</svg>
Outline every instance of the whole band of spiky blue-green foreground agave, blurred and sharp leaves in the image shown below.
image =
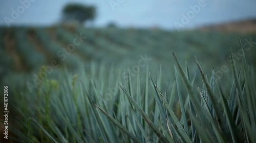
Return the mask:
<svg viewBox="0 0 256 143">
<path fill-rule="evenodd" d="M 135 80 L 131 75 L 122 80 L 120 72 L 102 65 L 98 74 L 92 65 L 90 75 L 78 71 L 60 76 L 61 82 L 46 79 L 30 93 L 36 97 L 23 95 L 17 104 L 28 133 L 15 133 L 28 142 L 253 142 L 255 77 L 242 44 L 241 50 L 238 72 L 230 48 L 233 80 L 225 92 L 214 70 L 208 80 L 196 56 L 202 85 L 195 87 L 196 76 L 190 77 L 188 65 L 184 70 L 174 53 L 172 88 L 161 86 L 161 68 L 155 81 L 148 66 Z M 119 90 L 106 97 L 107 85 L 116 83 Z"/>
</svg>

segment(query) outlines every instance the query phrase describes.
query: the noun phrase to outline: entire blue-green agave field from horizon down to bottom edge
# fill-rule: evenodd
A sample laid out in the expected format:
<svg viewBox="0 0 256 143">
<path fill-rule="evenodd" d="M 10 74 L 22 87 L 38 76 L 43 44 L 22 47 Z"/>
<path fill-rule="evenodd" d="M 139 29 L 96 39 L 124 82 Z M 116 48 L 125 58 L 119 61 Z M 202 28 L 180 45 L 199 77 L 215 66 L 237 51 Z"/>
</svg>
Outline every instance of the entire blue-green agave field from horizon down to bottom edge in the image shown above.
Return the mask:
<svg viewBox="0 0 256 143">
<path fill-rule="evenodd" d="M 8 141 L 254 142 L 255 40 L 216 31 L 1 27 Z"/>
</svg>

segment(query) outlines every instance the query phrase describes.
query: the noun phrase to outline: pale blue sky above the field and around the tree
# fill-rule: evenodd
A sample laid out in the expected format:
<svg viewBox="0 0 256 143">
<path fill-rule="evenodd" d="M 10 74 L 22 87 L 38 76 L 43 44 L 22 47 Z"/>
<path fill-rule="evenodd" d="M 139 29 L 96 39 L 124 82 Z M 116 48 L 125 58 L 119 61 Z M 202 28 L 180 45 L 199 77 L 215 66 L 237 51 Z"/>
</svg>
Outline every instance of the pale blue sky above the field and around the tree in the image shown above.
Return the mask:
<svg viewBox="0 0 256 143">
<path fill-rule="evenodd" d="M 193 28 L 256 18 L 255 0 L 20 0 L 0 2 L 0 25 L 52 25 L 68 3 L 94 5 L 94 26 Z"/>
</svg>

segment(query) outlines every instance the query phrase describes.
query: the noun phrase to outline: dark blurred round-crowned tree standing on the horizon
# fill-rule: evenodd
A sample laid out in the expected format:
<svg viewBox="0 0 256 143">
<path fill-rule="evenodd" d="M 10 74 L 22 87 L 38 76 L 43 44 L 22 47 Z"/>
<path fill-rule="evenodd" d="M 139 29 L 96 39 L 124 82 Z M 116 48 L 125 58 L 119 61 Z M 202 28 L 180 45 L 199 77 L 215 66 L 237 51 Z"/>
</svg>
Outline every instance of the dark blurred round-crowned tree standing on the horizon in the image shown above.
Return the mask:
<svg viewBox="0 0 256 143">
<path fill-rule="evenodd" d="M 81 4 L 68 4 L 62 10 L 63 21 L 85 21 L 94 20 L 96 12 L 94 6 L 84 6 Z"/>
</svg>

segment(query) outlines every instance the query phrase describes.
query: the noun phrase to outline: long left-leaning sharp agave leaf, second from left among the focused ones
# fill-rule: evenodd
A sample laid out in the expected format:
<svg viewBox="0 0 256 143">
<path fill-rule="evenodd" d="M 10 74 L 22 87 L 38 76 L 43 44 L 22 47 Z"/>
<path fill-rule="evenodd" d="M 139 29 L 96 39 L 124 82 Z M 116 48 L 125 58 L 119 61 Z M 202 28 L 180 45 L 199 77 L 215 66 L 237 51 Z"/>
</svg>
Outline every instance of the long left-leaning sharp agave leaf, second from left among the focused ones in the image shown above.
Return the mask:
<svg viewBox="0 0 256 143">
<path fill-rule="evenodd" d="M 131 97 L 131 95 L 129 95 L 129 93 L 124 90 L 121 85 L 119 84 L 119 87 L 122 89 L 122 91 L 124 92 L 124 94 L 126 95 L 127 98 L 129 98 L 130 102 L 135 106 L 135 108 L 141 113 L 141 116 L 143 117 L 143 119 L 146 121 L 146 123 L 153 129 L 153 131 L 155 132 L 155 134 L 158 136 L 158 138 L 162 141 L 162 142 L 169 142 L 164 136 L 163 134 L 157 129 L 157 127 L 153 124 L 153 122 L 150 120 L 150 118 L 147 117 L 147 115 L 145 114 L 145 112 L 138 106 L 138 104 L 136 103 L 136 101 L 134 101 L 134 99 Z"/>
</svg>

